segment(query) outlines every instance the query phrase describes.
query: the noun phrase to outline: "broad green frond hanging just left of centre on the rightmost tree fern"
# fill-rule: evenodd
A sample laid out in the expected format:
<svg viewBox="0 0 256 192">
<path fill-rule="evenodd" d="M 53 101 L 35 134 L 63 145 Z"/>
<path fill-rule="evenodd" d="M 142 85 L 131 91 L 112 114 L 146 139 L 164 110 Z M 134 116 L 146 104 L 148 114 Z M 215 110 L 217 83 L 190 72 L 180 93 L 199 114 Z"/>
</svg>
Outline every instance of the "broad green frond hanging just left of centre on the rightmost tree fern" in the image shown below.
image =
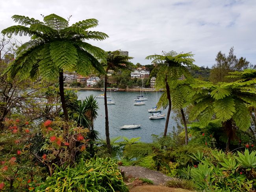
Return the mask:
<svg viewBox="0 0 256 192">
<path fill-rule="evenodd" d="M 222 122 L 231 119 L 236 112 L 235 101 L 230 97 L 215 101 L 213 106 L 216 117 Z"/>
</svg>

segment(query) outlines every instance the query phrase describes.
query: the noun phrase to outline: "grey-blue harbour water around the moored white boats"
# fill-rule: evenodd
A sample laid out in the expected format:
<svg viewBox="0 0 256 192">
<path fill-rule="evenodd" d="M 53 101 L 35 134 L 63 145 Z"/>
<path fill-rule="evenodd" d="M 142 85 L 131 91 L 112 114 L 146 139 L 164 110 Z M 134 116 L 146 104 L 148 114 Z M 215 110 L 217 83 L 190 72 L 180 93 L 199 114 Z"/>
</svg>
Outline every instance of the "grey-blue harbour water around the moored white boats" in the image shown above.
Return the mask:
<svg viewBox="0 0 256 192">
<path fill-rule="evenodd" d="M 79 90 L 79 99 L 93 94 L 97 96 L 101 91 Z M 110 96 L 110 92 L 107 93 Z M 142 142 L 152 142 L 152 134 L 161 135 L 165 127 L 165 118 L 150 120 L 148 109 L 156 106 L 156 92 L 147 92 L 148 100 L 143 101 L 145 105 L 134 105 L 134 98 L 139 96 L 139 92 L 111 92 L 115 105 L 108 105 L 109 135 L 110 138 L 124 136 L 127 138 L 141 137 Z M 145 96 L 145 92 L 144 92 Z M 104 98 L 96 98 L 99 104 L 98 118 L 95 121 L 95 129 L 100 132 L 100 137 L 105 139 L 105 111 Z M 162 111 L 167 114 L 167 109 Z M 171 114 L 172 115 L 172 114 Z M 123 125 L 141 124 L 137 129 L 120 129 Z M 173 129 L 174 120 L 170 118 L 168 131 Z"/>
</svg>

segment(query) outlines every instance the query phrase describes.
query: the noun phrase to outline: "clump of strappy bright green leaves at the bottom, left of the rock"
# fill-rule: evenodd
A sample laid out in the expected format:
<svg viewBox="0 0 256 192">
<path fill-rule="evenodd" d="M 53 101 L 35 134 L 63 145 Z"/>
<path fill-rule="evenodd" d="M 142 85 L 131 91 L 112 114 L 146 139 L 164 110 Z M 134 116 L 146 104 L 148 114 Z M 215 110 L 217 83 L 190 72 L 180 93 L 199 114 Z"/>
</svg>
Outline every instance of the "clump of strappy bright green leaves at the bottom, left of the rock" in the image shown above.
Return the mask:
<svg viewBox="0 0 256 192">
<path fill-rule="evenodd" d="M 118 165 L 112 159 L 81 159 L 74 168 L 57 166 L 45 184 L 38 187 L 39 192 L 128 192 Z"/>
</svg>

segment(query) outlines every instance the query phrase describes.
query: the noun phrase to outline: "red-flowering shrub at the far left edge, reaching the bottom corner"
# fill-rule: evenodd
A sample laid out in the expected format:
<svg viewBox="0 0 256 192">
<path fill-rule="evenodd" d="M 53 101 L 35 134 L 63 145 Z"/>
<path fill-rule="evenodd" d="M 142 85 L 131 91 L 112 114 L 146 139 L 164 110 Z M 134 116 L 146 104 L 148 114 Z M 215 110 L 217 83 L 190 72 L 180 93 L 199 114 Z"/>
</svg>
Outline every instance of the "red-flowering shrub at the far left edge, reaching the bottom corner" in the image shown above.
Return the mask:
<svg viewBox="0 0 256 192">
<path fill-rule="evenodd" d="M 30 153 L 30 140 L 35 135 L 33 124 L 22 117 L 6 118 L 3 124 L 4 129 L 0 131 L 0 191 L 14 188 L 15 191 L 26 191 L 35 180 L 41 180 L 40 175 L 45 169 L 35 166 Z"/>
</svg>

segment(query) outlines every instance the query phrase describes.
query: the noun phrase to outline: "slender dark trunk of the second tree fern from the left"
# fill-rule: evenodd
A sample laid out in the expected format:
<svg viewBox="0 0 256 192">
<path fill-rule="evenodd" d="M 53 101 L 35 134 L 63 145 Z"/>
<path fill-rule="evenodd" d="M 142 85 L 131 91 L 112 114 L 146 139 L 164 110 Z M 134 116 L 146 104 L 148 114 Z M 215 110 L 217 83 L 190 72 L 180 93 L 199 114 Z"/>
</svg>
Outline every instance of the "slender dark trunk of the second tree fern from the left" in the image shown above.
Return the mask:
<svg viewBox="0 0 256 192">
<path fill-rule="evenodd" d="M 108 76 L 105 75 L 104 77 L 104 104 L 105 104 L 105 132 L 106 132 L 106 142 L 108 153 L 111 155 L 111 145 L 110 145 L 110 138 L 109 138 L 109 123 L 108 123 L 108 104 L 107 104 L 107 81 Z"/>
</svg>

